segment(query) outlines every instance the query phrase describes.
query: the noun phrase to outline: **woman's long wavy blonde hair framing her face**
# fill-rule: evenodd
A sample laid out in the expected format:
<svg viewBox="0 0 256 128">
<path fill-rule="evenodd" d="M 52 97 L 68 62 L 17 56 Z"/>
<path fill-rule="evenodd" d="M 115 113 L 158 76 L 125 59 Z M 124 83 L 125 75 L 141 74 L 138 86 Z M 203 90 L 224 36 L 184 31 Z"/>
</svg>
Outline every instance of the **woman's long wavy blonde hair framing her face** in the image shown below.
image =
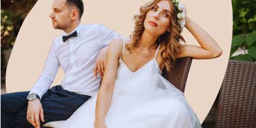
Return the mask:
<svg viewBox="0 0 256 128">
<path fill-rule="evenodd" d="M 133 33 L 131 34 L 131 39 L 133 42 L 127 45 L 127 49 L 131 51 L 133 48 L 138 47 L 140 38 L 142 37 L 142 33 L 144 32 L 144 20 L 146 18 L 147 12 L 161 0 L 148 1 L 145 5 L 140 6 L 140 14 L 136 14 L 133 18 L 135 19 L 135 27 Z M 169 31 L 165 31 L 162 35 L 159 35 L 157 41 L 155 43 L 161 44 L 164 47 L 164 50 L 161 52 L 161 57 L 163 57 L 163 61 L 165 63 L 165 68 L 168 72 L 172 69 L 172 63 L 176 60 L 174 58 L 174 54 L 180 51 L 181 44 L 180 40 L 185 42 L 185 39 L 182 37 L 181 28 L 178 23 L 177 18 L 177 10 L 175 9 L 172 0 L 170 1 L 171 5 L 171 18 L 170 18 L 170 29 Z"/>
</svg>

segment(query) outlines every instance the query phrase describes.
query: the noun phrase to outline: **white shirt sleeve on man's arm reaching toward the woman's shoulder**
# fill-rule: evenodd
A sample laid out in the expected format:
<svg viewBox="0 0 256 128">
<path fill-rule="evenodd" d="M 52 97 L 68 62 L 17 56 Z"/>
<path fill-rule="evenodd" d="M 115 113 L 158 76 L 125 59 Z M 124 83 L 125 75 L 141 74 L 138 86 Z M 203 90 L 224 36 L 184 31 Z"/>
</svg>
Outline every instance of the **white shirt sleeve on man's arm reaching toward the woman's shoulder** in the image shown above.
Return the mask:
<svg viewBox="0 0 256 128">
<path fill-rule="evenodd" d="M 115 31 L 112 31 L 107 27 L 104 27 L 103 25 L 99 24 L 98 38 L 99 44 L 102 46 L 102 48 L 108 46 L 110 44 L 110 41 L 116 37 L 123 37 L 123 35 L 119 35 Z"/>
</svg>

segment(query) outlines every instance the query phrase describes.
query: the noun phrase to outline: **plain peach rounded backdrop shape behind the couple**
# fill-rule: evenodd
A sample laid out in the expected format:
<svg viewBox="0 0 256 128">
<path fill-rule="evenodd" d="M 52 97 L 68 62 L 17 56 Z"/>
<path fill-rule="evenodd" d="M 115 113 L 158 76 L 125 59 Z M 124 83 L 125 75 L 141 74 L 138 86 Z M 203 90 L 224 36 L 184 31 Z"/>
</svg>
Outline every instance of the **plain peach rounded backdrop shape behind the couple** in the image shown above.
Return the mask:
<svg viewBox="0 0 256 128">
<path fill-rule="evenodd" d="M 133 30 L 132 16 L 145 1 L 84 2 L 83 23 L 101 23 L 128 36 Z M 223 48 L 223 55 L 218 59 L 193 60 L 189 72 L 185 96 L 202 122 L 217 97 L 227 67 L 232 34 L 231 1 L 182 0 L 182 3 L 188 15 Z M 52 39 L 61 33 L 52 29 L 48 17 L 51 4 L 52 1 L 37 1 L 23 22 L 7 66 L 7 92 L 28 91 L 42 72 Z M 188 44 L 197 45 L 187 29 L 182 34 Z M 60 69 L 53 85 L 61 84 L 63 77 Z"/>
</svg>

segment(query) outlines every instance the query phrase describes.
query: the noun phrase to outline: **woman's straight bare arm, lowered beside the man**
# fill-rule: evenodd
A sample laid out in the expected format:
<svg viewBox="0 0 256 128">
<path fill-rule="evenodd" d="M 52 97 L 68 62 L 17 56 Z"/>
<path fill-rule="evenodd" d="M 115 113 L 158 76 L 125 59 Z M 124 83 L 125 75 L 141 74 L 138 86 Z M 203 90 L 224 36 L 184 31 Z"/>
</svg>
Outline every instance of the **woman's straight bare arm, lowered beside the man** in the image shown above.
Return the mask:
<svg viewBox="0 0 256 128">
<path fill-rule="evenodd" d="M 106 114 L 110 108 L 114 91 L 118 59 L 122 54 L 123 43 L 121 42 L 122 39 L 113 39 L 108 48 L 106 69 L 97 95 L 95 127 L 104 127 L 102 125 L 105 125 Z"/>
</svg>

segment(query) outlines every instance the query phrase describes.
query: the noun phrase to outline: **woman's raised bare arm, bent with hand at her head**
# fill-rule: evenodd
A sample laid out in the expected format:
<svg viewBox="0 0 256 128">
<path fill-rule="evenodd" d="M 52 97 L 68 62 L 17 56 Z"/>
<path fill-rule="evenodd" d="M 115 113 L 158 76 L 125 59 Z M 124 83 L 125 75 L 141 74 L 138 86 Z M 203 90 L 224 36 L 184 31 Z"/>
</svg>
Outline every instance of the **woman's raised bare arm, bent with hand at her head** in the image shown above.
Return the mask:
<svg viewBox="0 0 256 128">
<path fill-rule="evenodd" d="M 185 14 L 187 15 L 186 10 Z M 200 46 L 182 45 L 176 58 L 193 57 L 194 59 L 212 59 L 221 56 L 222 50 L 214 39 L 204 29 L 199 27 L 189 16 L 186 16 L 185 27 L 197 39 Z"/>
</svg>

